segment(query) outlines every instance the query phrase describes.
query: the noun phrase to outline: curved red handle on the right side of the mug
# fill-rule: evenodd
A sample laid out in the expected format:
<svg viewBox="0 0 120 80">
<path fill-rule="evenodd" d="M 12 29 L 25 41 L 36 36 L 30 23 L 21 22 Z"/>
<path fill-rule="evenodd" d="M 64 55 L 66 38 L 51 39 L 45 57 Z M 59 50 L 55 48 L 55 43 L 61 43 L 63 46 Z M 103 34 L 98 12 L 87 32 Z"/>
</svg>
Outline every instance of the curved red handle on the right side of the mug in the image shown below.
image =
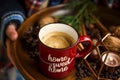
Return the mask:
<svg viewBox="0 0 120 80">
<path fill-rule="evenodd" d="M 89 44 L 82 51 L 77 50 L 76 58 L 79 57 L 84 58 L 92 50 L 92 40 L 90 39 L 89 36 L 80 36 L 77 45 L 81 42 L 88 42 Z"/>
</svg>

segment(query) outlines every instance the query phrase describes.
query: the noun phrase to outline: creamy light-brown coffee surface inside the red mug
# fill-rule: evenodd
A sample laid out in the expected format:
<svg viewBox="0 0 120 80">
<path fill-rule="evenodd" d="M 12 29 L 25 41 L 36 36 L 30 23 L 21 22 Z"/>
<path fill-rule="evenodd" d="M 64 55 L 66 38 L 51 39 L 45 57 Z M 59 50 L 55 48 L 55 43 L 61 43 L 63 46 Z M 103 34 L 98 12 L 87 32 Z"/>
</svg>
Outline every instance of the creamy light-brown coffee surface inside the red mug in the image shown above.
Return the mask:
<svg viewBox="0 0 120 80">
<path fill-rule="evenodd" d="M 65 32 L 50 32 L 42 37 L 41 41 L 52 48 L 62 49 L 72 46 L 75 40 Z"/>
</svg>

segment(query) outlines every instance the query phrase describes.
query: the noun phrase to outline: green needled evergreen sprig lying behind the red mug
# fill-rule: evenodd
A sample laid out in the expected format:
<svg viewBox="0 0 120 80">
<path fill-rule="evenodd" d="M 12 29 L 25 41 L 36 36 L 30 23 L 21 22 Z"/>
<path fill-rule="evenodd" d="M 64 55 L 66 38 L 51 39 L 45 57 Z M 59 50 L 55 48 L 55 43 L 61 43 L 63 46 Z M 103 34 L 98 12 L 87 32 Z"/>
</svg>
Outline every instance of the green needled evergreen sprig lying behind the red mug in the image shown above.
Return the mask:
<svg viewBox="0 0 120 80">
<path fill-rule="evenodd" d="M 97 7 L 91 0 L 74 0 L 66 8 L 76 13 L 73 15 L 59 16 L 59 20 L 71 25 L 78 33 L 80 33 L 83 22 L 85 25 L 94 23 L 90 16 L 97 10 Z"/>
</svg>

